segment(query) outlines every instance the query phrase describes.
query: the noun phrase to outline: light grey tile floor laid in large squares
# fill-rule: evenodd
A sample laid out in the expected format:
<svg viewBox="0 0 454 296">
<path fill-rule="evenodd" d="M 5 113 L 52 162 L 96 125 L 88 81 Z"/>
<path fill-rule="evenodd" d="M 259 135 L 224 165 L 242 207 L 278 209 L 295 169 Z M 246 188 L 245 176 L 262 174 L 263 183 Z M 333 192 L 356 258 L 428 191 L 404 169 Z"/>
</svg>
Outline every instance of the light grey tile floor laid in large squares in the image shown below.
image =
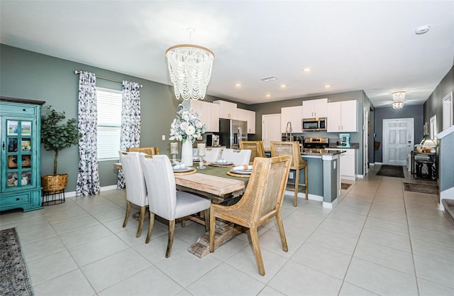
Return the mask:
<svg viewBox="0 0 454 296">
<path fill-rule="evenodd" d="M 289 251 L 274 221 L 262 226 L 264 277 L 248 234 L 204 258 L 189 253 L 204 233 L 191 222 L 166 259 L 165 224 L 155 223 L 149 244 L 146 227 L 135 238 L 138 221 L 122 227 L 118 190 L 1 214 L 0 226 L 18 230 L 36 295 L 454 295 L 454 227 L 438 197 L 405 192 L 402 182 L 415 180 L 376 176 L 379 168 L 343 190 L 333 210 L 304 199 L 295 208 L 286 197 Z"/>
</svg>

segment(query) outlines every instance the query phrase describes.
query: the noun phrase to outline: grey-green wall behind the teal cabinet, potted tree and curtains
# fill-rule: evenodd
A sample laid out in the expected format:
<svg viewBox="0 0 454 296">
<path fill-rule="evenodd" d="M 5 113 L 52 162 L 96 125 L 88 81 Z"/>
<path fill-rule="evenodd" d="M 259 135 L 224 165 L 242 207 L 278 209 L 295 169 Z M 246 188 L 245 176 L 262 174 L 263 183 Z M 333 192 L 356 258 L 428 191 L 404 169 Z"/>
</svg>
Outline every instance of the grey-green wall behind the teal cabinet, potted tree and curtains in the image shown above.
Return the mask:
<svg viewBox="0 0 454 296">
<path fill-rule="evenodd" d="M 140 89 L 141 124 L 140 146 L 157 146 L 160 153 L 170 153 L 170 124 L 180 101 L 175 99 L 173 88 L 118 72 L 92 67 L 70 60 L 62 60 L 27 50 L 0 44 L 0 95 L 22 99 L 43 100 L 59 111 L 65 111 L 67 118 L 77 118 L 77 94 L 79 75 L 74 70 L 94 72 L 96 77 L 112 80 L 130 80 L 143 84 Z M 153 65 L 150 65 L 153 67 Z M 121 83 L 96 79 L 96 85 L 121 90 Z M 218 97 L 206 96 L 207 102 Z M 245 107 L 244 104 L 240 104 Z M 166 136 L 166 141 L 161 136 Z M 52 173 L 53 153 L 41 150 L 41 175 Z M 116 184 L 115 161 L 99 163 L 99 178 L 102 186 Z M 67 192 L 75 190 L 79 166 L 77 146 L 62 150 L 58 156 L 58 172 L 68 173 Z"/>
</svg>

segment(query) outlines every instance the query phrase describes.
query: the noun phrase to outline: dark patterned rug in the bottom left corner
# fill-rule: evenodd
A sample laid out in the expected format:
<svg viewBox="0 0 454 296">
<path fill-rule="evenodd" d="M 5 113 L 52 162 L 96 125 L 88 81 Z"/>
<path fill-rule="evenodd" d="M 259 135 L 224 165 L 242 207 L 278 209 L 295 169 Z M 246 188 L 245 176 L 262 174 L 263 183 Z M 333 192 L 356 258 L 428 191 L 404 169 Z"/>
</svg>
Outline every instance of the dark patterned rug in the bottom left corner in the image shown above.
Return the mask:
<svg viewBox="0 0 454 296">
<path fill-rule="evenodd" d="M 0 231 L 0 295 L 33 295 L 16 229 Z"/>
</svg>

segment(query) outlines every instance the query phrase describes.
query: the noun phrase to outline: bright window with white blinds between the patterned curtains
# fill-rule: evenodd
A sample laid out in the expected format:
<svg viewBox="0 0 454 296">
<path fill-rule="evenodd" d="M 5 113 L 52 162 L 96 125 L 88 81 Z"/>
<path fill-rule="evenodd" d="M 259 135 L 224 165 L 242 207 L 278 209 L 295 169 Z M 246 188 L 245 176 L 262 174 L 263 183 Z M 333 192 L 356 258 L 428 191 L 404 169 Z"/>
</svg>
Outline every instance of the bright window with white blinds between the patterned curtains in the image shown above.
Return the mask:
<svg viewBox="0 0 454 296">
<path fill-rule="evenodd" d="M 121 100 L 120 91 L 96 87 L 98 160 L 118 159 L 121 133 Z"/>
</svg>

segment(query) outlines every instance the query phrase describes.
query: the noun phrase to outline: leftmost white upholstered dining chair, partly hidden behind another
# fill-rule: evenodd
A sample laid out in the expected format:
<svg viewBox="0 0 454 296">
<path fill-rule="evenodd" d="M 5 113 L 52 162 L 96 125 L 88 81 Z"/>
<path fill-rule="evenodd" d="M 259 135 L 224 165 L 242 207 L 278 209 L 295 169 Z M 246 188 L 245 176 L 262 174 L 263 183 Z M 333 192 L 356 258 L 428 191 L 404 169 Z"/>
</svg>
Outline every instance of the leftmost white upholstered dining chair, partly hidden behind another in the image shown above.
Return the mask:
<svg viewBox="0 0 454 296">
<path fill-rule="evenodd" d="M 143 222 L 145 221 L 146 209 L 148 207 L 147 187 L 143 178 L 143 171 L 140 165 L 140 153 L 119 151 L 120 163 L 125 176 L 126 183 L 126 214 L 123 227 L 128 224 L 131 204 L 140 207 L 139 226 L 135 237 L 142 233 Z"/>
</svg>

